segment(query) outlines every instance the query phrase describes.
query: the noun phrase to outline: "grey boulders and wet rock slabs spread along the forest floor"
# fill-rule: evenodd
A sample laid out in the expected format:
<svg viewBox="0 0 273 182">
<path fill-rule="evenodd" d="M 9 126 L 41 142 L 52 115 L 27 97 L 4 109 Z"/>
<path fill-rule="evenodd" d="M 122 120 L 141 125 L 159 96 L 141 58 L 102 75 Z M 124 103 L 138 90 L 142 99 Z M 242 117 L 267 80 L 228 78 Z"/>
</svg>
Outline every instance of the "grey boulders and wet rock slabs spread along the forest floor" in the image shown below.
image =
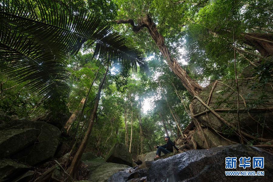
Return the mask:
<svg viewBox="0 0 273 182">
<path fill-rule="evenodd" d="M 60 158 L 62 164 L 67 157 L 63 155 L 68 146 L 61 142 L 60 122 L 30 121 L 16 119 L 0 125 L 0 181 L 53 181 L 64 179 L 59 163 L 50 165 L 43 174 L 36 175 L 36 166 L 45 165 L 49 159 Z M 210 134 L 210 131 L 207 131 Z M 198 133 L 191 136 L 198 138 Z M 213 137 L 211 137 L 213 138 Z M 189 138 L 187 138 L 188 140 Z M 180 148 L 186 146 L 185 140 L 177 140 Z M 199 147 L 202 140 L 196 140 Z M 218 145 L 215 138 L 212 143 Z M 194 144 L 194 143 L 193 143 Z M 190 145 L 186 147 L 190 148 Z M 210 146 L 213 147 L 213 146 Z M 62 156 L 62 157 L 61 157 Z M 187 150 L 183 153 L 169 153 L 154 160 L 155 151 L 139 155 L 133 162 L 127 147 L 116 143 L 105 159 L 92 153 L 84 153 L 81 160 L 89 174 L 82 182 L 237 182 L 273 181 L 273 155 L 257 147 L 247 145 L 228 145 L 202 150 Z M 226 169 L 225 158 L 237 157 L 237 168 Z M 239 167 L 240 157 L 251 157 L 251 167 Z M 264 157 L 264 168 L 253 169 L 252 158 Z M 263 171 L 264 176 L 226 176 L 225 171 Z M 37 178 L 38 177 L 38 178 Z"/>
</svg>

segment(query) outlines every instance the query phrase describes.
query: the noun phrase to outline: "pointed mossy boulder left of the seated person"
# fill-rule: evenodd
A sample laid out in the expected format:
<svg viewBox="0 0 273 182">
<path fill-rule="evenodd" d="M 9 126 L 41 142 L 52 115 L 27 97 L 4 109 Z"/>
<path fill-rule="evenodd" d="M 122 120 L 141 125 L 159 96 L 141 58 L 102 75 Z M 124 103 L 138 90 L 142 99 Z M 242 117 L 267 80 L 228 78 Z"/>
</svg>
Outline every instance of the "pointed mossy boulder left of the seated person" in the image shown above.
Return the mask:
<svg viewBox="0 0 273 182">
<path fill-rule="evenodd" d="M 123 143 L 116 143 L 105 157 L 105 161 L 133 166 L 132 155 Z"/>
</svg>

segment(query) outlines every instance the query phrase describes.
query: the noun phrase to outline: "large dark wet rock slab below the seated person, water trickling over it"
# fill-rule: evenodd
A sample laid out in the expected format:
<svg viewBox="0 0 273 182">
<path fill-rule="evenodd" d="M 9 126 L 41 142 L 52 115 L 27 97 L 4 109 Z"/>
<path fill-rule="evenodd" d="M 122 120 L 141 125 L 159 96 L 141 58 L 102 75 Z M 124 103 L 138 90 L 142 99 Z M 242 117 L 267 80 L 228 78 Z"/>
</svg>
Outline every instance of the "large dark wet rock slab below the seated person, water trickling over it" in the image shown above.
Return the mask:
<svg viewBox="0 0 273 182">
<path fill-rule="evenodd" d="M 236 169 L 225 169 L 225 157 L 237 157 Z M 264 157 L 264 169 L 244 169 L 239 166 L 240 157 Z M 189 150 L 167 159 L 153 162 L 147 181 L 200 181 L 237 182 L 272 181 L 273 156 L 266 151 L 246 145 L 214 147 L 206 150 Z M 164 166 L 164 167 L 159 167 Z M 264 171 L 264 176 L 226 176 L 225 171 Z M 209 174 L 209 175 L 208 175 Z"/>
</svg>

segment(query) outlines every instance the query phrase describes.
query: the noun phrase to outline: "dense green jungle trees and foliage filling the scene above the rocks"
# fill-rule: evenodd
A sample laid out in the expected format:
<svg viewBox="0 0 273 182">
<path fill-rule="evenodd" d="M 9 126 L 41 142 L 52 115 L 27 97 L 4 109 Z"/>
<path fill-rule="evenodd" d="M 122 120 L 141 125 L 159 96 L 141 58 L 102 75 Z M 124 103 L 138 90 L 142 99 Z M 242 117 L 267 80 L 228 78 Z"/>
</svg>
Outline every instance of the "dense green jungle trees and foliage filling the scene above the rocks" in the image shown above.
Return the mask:
<svg viewBox="0 0 273 182">
<path fill-rule="evenodd" d="M 272 23 L 271 0 L 1 0 L 0 124 L 66 118 L 74 179 L 84 152 L 105 157 L 120 142 L 135 157 L 190 123 L 206 128 L 198 98 L 234 111 L 209 126 L 217 133 L 270 146 Z"/>
</svg>

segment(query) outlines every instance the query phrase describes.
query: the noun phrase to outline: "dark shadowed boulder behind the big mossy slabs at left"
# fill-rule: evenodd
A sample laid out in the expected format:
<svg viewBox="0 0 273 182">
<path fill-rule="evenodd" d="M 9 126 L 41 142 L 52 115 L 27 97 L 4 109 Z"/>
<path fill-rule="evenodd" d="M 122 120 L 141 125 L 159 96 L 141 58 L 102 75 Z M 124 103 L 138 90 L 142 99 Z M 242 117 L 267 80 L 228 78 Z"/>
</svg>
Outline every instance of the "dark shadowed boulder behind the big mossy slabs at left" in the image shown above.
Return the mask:
<svg viewBox="0 0 273 182">
<path fill-rule="evenodd" d="M 59 130 L 63 130 L 64 125 L 68 120 L 68 116 L 63 113 L 53 114 L 52 112 L 46 113 L 45 115 L 38 116 L 33 121 L 44 121 L 46 123 L 52 124 L 59 128 Z"/>
</svg>

